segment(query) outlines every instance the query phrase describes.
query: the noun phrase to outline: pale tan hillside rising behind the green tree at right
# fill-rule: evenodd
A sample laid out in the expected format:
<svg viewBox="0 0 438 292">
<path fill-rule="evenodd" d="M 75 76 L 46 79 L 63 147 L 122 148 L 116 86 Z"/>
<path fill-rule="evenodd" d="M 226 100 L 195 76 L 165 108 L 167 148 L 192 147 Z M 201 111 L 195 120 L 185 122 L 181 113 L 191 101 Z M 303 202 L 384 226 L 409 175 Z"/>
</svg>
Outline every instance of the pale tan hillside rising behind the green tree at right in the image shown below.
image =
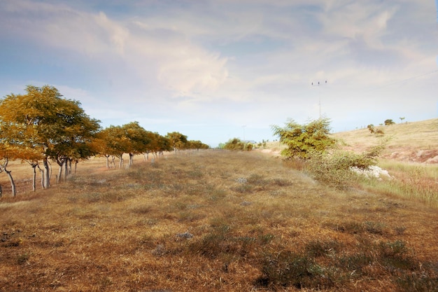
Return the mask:
<svg viewBox="0 0 438 292">
<path fill-rule="evenodd" d="M 344 141 L 350 150 L 358 152 L 378 145 L 382 139 L 389 139 L 383 158 L 438 163 L 438 118 L 376 128 L 383 130 L 384 134 L 376 135 L 368 129 L 360 129 L 335 133 L 333 136 Z"/>
</svg>

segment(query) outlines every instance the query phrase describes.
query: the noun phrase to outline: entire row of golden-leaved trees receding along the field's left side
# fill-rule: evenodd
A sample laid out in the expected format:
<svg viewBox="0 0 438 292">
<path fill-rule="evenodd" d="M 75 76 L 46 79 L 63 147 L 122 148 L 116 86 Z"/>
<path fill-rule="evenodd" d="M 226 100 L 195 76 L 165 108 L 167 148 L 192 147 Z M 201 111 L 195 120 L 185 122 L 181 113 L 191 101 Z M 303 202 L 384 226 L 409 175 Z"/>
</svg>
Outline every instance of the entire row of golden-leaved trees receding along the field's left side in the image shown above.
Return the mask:
<svg viewBox="0 0 438 292">
<path fill-rule="evenodd" d="M 33 169 L 32 188 L 36 189 L 36 171 L 41 186 L 50 187 L 50 162 L 59 165 L 57 181 L 66 179 L 78 162 L 93 156 L 106 157 L 106 167 L 123 166 L 123 154 L 159 156 L 164 151 L 204 149 L 201 141 L 188 140 L 179 132 L 162 136 L 145 130 L 138 122 L 102 129 L 100 120 L 90 118 L 80 102 L 64 98 L 50 85 L 27 85 L 26 94 L 6 95 L 0 100 L 0 172 L 7 174 L 12 194 L 15 183 L 8 162 L 21 160 Z M 1 186 L 0 186 L 1 197 Z"/>
</svg>

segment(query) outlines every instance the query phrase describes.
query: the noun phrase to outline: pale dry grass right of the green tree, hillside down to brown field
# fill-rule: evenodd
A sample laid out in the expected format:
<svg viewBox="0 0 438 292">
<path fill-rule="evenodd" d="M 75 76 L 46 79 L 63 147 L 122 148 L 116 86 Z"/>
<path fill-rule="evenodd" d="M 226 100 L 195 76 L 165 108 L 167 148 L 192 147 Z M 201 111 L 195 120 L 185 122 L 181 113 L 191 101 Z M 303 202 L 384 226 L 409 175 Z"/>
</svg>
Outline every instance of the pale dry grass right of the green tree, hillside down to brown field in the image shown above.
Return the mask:
<svg viewBox="0 0 438 292">
<path fill-rule="evenodd" d="M 356 152 L 389 139 L 379 166 L 388 170 L 393 180 L 365 180 L 365 188 L 438 207 L 438 119 L 379 128 L 383 136 L 367 129 L 334 134 L 346 148 Z"/>
</svg>

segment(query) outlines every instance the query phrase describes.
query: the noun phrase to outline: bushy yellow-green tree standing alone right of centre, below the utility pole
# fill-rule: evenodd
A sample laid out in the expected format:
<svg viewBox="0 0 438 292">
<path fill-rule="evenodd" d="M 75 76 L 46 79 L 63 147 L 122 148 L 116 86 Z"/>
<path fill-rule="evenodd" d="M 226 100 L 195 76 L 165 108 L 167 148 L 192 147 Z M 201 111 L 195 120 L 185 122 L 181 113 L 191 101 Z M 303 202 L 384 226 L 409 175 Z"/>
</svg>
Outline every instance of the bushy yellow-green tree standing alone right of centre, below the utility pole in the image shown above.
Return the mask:
<svg viewBox="0 0 438 292">
<path fill-rule="evenodd" d="M 328 118 L 313 120 L 305 125 L 290 120 L 285 127 L 273 125 L 272 130 L 280 138 L 280 143 L 287 146 L 281 151 L 285 158 L 309 159 L 312 153 L 323 153 L 335 143 L 330 136 Z"/>
</svg>

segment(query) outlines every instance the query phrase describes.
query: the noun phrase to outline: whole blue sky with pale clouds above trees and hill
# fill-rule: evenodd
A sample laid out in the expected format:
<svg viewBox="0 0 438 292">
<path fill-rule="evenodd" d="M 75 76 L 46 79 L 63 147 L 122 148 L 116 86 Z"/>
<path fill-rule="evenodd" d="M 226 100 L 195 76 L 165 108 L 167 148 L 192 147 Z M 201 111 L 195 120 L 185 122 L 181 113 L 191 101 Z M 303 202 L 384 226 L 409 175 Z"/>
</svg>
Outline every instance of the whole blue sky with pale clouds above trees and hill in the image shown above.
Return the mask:
<svg viewBox="0 0 438 292">
<path fill-rule="evenodd" d="M 437 36 L 438 0 L 0 0 L 0 97 L 51 85 L 102 127 L 212 147 L 428 120 Z"/>
</svg>

